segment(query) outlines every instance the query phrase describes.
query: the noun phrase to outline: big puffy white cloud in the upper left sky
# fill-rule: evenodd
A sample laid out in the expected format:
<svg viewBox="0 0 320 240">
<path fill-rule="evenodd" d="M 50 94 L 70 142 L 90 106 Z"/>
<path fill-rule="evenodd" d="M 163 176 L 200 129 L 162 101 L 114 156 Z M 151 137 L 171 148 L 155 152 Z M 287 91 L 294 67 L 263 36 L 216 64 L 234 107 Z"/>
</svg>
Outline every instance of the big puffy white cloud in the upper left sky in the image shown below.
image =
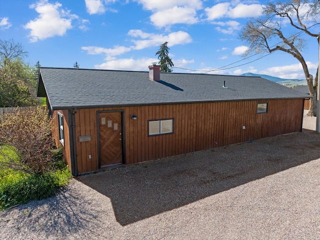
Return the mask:
<svg viewBox="0 0 320 240">
<path fill-rule="evenodd" d="M 76 15 L 70 15 L 69 11 L 59 10 L 62 5 L 56 2 L 49 4 L 47 0 L 29 6 L 39 14 L 38 18 L 29 21 L 24 29 L 29 29 L 30 42 L 37 42 L 53 36 L 63 36 L 67 30 L 72 29 L 72 19 Z M 61 18 L 66 17 L 66 18 Z"/>
</svg>

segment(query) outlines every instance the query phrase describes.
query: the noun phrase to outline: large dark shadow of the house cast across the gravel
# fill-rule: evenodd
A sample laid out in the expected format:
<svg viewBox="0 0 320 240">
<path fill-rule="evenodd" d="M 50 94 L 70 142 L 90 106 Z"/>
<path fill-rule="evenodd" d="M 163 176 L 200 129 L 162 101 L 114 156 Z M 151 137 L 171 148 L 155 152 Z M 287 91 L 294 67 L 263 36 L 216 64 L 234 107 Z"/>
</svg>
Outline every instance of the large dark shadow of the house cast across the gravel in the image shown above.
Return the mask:
<svg viewBox="0 0 320 240">
<path fill-rule="evenodd" d="M 320 134 L 303 129 L 76 179 L 110 198 L 127 225 L 318 158 Z"/>
</svg>

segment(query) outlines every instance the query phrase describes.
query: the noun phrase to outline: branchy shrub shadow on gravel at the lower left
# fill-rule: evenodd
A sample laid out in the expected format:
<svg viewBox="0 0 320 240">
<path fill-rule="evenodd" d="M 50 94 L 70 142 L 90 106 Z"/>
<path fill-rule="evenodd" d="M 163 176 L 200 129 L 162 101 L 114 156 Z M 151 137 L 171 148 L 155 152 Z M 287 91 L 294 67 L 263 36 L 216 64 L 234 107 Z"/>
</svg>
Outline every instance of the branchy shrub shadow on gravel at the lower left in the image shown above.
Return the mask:
<svg viewBox="0 0 320 240">
<path fill-rule="evenodd" d="M 97 229 L 88 227 L 88 222 L 93 225 L 99 223 L 98 213 L 87 207 L 92 204 L 90 199 L 81 199 L 79 194 L 68 192 L 69 190 L 63 188 L 49 200 L 31 201 L 1 212 L 0 219 L 12 215 L 12 218 L 6 219 L 2 224 L 13 227 L 16 233 L 20 233 L 10 239 L 16 239 L 25 232 L 35 238 L 26 235 L 25 238 L 18 239 L 66 239 L 63 236 L 76 235 L 79 229 L 83 228 L 87 229 L 90 236 L 99 236 Z M 0 230 L 0 239 L 9 239 L 9 236 Z"/>
</svg>

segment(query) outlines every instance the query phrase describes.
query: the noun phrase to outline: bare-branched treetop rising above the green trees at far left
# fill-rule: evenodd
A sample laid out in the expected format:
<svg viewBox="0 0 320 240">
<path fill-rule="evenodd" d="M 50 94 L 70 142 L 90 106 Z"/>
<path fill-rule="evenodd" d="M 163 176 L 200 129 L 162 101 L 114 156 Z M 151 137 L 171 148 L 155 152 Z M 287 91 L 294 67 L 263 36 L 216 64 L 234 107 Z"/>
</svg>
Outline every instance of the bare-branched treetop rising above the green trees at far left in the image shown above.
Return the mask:
<svg viewBox="0 0 320 240">
<path fill-rule="evenodd" d="M 2 67 L 17 58 L 27 57 L 28 52 L 23 50 L 20 43 L 14 43 L 11 40 L 0 39 L 0 59 Z"/>
</svg>

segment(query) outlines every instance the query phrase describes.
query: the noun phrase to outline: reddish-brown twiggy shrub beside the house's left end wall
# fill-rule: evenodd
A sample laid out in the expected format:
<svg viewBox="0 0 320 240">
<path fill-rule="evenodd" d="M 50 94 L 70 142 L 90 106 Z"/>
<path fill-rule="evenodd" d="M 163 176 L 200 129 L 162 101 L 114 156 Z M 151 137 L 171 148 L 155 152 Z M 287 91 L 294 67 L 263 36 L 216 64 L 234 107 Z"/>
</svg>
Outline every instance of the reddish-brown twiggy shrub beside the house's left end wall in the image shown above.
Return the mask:
<svg viewBox="0 0 320 240">
<path fill-rule="evenodd" d="M 54 170 L 51 121 L 40 107 L 4 114 L 0 119 L 0 144 L 10 146 L 18 161 L 0 148 L 2 169 L 9 167 L 32 174 Z"/>
</svg>

